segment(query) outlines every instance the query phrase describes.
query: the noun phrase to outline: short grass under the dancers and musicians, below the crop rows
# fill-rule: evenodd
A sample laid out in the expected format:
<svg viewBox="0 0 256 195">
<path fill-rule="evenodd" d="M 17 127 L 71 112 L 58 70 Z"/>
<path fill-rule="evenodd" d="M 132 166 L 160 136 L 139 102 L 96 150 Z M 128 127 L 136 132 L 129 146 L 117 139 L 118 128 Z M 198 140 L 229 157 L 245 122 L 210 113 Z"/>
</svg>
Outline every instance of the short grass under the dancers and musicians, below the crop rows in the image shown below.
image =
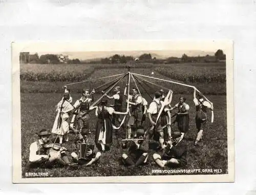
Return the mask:
<svg viewBox="0 0 256 195">
<path fill-rule="evenodd" d="M 73 94 L 73 99 L 78 99 L 79 94 Z M 195 106 L 193 106 L 192 96 L 187 96 L 187 103 L 190 105 L 190 129 L 185 135 L 188 142 L 188 164 L 186 168 L 218 168 L 222 169 L 223 173 L 227 173 L 227 126 L 226 126 L 226 101 L 225 96 L 208 96 L 215 105 L 215 122 L 208 124 L 208 131 L 205 133 L 200 146 L 193 147 L 197 130 L 195 127 Z M 174 103 L 178 102 L 179 94 L 174 96 Z M 36 132 L 41 128 L 51 129 L 55 118 L 54 105 L 61 99 L 59 93 L 45 93 L 44 95 L 38 93 L 22 93 L 22 165 L 23 175 L 28 172 L 28 156 L 29 145 L 36 140 Z M 147 98 L 147 101 L 150 99 Z M 94 112 L 91 112 L 93 121 L 91 129 L 94 131 L 96 117 Z M 176 129 L 174 127 L 173 129 Z M 92 139 L 93 139 L 92 135 Z M 65 143 L 64 146 L 69 150 L 69 154 L 74 150 L 72 140 L 74 135 L 71 135 L 71 142 Z M 111 151 L 102 154 L 100 162 L 91 167 L 79 166 L 78 169 L 67 170 L 70 168 L 62 168 L 56 166 L 52 169 L 32 169 L 30 172 L 49 172 L 52 177 L 80 177 L 80 176 L 130 176 L 130 175 L 152 175 L 152 169 L 159 167 L 154 163 L 152 154 L 157 143 L 153 140 L 150 145 L 150 158 L 148 164 L 143 167 L 130 169 L 121 165 L 118 161 L 123 149 L 117 147 L 117 138 L 120 141 L 124 138 L 124 132 L 120 131 L 114 133 L 113 144 Z M 121 142 L 121 141 L 120 141 Z"/>
</svg>

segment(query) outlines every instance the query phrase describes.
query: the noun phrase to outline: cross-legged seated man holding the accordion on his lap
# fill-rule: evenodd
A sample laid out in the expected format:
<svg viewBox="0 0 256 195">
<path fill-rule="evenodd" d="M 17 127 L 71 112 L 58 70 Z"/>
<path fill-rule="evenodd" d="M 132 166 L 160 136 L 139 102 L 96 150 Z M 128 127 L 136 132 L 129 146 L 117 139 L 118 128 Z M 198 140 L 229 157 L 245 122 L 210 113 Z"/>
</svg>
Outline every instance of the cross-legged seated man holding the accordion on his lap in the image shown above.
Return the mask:
<svg viewBox="0 0 256 195">
<path fill-rule="evenodd" d="M 82 140 L 79 139 L 78 141 L 76 141 L 76 149 L 78 150 L 78 144 L 79 143 L 84 143 L 84 144 L 90 144 L 90 142 L 88 141 L 88 137 L 86 134 L 82 133 Z M 95 163 L 96 161 L 99 160 L 101 156 L 101 153 L 98 151 L 96 145 L 94 144 L 94 150 L 92 149 L 88 149 L 87 153 L 86 153 L 86 158 L 78 158 L 78 154 L 75 152 L 71 153 L 71 157 L 73 159 L 74 162 L 77 162 L 78 164 L 85 164 L 86 166 L 89 166 L 93 163 Z"/>
</svg>

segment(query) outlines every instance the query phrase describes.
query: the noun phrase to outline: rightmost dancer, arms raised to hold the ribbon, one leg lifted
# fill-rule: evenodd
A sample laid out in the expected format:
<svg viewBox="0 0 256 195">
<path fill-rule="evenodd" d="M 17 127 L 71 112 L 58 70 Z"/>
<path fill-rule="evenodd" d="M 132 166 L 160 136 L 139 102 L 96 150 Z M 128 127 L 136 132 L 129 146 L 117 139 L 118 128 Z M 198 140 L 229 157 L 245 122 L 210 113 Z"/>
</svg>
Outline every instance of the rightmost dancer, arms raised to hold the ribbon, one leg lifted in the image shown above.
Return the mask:
<svg viewBox="0 0 256 195">
<path fill-rule="evenodd" d="M 197 145 L 203 136 L 203 131 L 206 129 L 207 110 L 208 109 L 214 110 L 214 107 L 208 101 L 204 100 L 202 93 L 198 93 L 196 96 L 196 89 L 194 90 L 194 103 L 196 105 L 196 111 L 197 111 L 196 126 L 197 126 L 198 133 L 195 141 L 195 145 Z"/>
</svg>

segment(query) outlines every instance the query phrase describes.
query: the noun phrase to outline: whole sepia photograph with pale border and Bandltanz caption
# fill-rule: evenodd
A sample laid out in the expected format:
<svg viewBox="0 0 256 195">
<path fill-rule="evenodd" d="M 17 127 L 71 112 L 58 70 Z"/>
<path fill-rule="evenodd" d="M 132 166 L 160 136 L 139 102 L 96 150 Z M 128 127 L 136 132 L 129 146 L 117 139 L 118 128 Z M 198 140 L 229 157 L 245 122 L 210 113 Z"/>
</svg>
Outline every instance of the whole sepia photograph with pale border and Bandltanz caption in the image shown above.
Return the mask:
<svg viewBox="0 0 256 195">
<path fill-rule="evenodd" d="M 232 182 L 232 52 L 13 43 L 13 182 Z"/>
</svg>

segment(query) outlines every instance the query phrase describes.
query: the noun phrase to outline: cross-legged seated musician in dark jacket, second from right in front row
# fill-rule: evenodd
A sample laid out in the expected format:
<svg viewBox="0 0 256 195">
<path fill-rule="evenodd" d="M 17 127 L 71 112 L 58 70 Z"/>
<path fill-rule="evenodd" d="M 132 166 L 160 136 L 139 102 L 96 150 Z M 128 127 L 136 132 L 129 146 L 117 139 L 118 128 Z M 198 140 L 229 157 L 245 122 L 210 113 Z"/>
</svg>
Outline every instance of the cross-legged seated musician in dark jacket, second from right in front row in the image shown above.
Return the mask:
<svg viewBox="0 0 256 195">
<path fill-rule="evenodd" d="M 143 139 L 144 129 L 137 130 L 138 139 Z M 122 154 L 122 161 L 128 166 L 139 166 L 145 164 L 148 157 L 148 141 L 132 139 L 123 148 L 128 148 L 127 153 Z"/>
</svg>

